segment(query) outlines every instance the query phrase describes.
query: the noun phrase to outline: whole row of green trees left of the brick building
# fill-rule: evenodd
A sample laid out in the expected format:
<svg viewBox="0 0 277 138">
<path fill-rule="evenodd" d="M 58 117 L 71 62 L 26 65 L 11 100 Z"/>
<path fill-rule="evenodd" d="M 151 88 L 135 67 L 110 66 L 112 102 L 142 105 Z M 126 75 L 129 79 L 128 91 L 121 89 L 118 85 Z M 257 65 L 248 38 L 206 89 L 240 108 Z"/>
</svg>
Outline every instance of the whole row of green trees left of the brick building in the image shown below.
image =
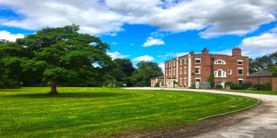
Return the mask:
<svg viewBox="0 0 277 138">
<path fill-rule="evenodd" d="M 162 75 L 157 63 L 107 55 L 109 45 L 98 37 L 78 33 L 79 26 L 44 28 L 15 42 L 0 41 L 0 87 L 103 86 L 108 83 L 149 86 Z"/>
</svg>

